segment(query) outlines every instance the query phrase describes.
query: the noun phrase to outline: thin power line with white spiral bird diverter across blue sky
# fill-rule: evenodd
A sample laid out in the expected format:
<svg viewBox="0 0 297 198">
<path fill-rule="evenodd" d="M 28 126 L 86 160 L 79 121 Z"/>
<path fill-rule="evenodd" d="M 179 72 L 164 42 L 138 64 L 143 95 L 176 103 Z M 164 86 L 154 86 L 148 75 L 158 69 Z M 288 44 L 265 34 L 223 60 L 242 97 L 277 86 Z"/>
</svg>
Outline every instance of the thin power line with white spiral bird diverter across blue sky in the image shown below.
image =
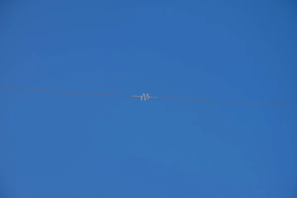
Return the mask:
<svg viewBox="0 0 297 198">
<path fill-rule="evenodd" d="M 0 88 L 0 90 L 17 90 L 17 91 L 31 91 L 31 92 L 49 92 L 49 93 L 64 93 L 64 94 L 81 94 L 81 95 L 97 95 L 97 96 L 113 96 L 113 97 L 131 97 L 144 99 L 176 99 L 176 100 L 192 100 L 192 101 L 207 101 L 207 102 L 221 102 L 221 103 L 242 103 L 242 104 L 261 104 L 261 105 L 278 105 L 278 106 L 297 106 L 297 104 L 272 104 L 272 103 L 260 103 L 260 102 L 240 102 L 240 101 L 223 101 L 223 100 L 210 100 L 210 99 L 182 99 L 182 98 L 162 98 L 162 97 L 150 97 L 145 94 L 142 96 L 130 96 L 130 95 L 115 95 L 115 94 L 97 94 L 97 93 L 85 93 L 85 92 L 63 92 L 63 91 L 50 91 L 50 90 L 32 90 L 32 89 L 18 89 L 18 88 Z"/>
</svg>

